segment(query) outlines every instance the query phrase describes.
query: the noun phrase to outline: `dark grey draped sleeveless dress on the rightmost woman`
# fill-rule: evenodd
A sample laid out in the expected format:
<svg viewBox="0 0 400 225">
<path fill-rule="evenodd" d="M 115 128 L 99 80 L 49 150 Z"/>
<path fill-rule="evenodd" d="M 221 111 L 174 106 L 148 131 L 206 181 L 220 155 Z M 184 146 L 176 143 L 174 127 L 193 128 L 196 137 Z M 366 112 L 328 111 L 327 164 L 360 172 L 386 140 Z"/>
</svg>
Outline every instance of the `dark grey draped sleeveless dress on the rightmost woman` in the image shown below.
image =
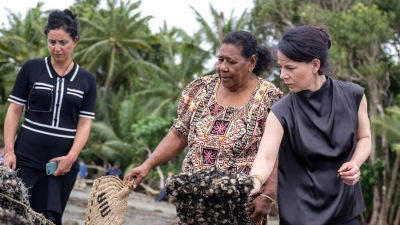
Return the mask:
<svg viewBox="0 0 400 225">
<path fill-rule="evenodd" d="M 335 225 L 365 210 L 361 186 L 337 177 L 357 145 L 364 89 L 327 77 L 318 91 L 289 93 L 271 110 L 284 129 L 279 150 L 281 225 Z"/>
</svg>

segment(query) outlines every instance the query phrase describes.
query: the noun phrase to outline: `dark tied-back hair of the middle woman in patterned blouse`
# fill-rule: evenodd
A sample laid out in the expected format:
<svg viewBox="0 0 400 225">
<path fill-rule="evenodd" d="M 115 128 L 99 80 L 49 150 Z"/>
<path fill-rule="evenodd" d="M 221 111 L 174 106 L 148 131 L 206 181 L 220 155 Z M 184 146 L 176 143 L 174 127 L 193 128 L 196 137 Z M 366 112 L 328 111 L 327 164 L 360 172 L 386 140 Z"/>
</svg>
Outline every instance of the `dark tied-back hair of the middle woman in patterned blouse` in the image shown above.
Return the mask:
<svg viewBox="0 0 400 225">
<path fill-rule="evenodd" d="M 268 70 L 271 64 L 271 52 L 263 45 L 257 43 L 256 38 L 247 31 L 232 31 L 225 35 L 222 40 L 223 44 L 233 44 L 242 48 L 241 54 L 249 60 L 253 55 L 257 57 L 256 65 L 254 66 L 253 73 L 260 76 L 263 72 Z"/>
</svg>

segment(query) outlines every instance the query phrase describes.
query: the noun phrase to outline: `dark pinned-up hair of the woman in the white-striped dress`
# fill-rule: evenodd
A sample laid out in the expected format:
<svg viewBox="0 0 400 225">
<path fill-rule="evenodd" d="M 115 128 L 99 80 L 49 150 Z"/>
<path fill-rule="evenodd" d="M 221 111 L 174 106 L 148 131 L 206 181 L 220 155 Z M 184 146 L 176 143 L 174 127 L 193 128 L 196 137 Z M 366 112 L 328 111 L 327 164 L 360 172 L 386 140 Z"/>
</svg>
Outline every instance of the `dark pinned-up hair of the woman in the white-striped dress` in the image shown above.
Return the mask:
<svg viewBox="0 0 400 225">
<path fill-rule="evenodd" d="M 67 32 L 72 39 L 75 39 L 75 37 L 79 38 L 76 14 L 72 13 L 69 9 L 51 11 L 47 19 L 47 25 L 44 28 L 44 34 L 47 36 L 49 31 L 58 29 Z"/>
</svg>

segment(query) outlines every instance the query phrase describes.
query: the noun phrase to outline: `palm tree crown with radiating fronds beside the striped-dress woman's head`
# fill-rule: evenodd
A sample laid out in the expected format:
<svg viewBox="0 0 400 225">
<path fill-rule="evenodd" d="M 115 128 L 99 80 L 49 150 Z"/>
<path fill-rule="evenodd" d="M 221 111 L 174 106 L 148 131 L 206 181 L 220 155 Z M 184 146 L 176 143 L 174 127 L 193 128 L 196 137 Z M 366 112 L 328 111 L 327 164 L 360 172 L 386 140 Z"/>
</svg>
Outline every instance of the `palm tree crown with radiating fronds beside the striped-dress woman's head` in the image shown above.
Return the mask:
<svg viewBox="0 0 400 225">
<path fill-rule="evenodd" d="M 134 90 L 140 67 L 126 67 L 126 64 L 138 65 L 151 51 L 149 42 L 154 38 L 147 25 L 151 17 L 141 18 L 140 12 L 134 13 L 140 3 L 107 0 L 108 9 L 76 6 L 84 16 L 81 18 L 83 38 L 75 57 L 95 74 L 103 99 L 109 89 L 115 91 L 121 85 L 126 90 Z"/>
</svg>

